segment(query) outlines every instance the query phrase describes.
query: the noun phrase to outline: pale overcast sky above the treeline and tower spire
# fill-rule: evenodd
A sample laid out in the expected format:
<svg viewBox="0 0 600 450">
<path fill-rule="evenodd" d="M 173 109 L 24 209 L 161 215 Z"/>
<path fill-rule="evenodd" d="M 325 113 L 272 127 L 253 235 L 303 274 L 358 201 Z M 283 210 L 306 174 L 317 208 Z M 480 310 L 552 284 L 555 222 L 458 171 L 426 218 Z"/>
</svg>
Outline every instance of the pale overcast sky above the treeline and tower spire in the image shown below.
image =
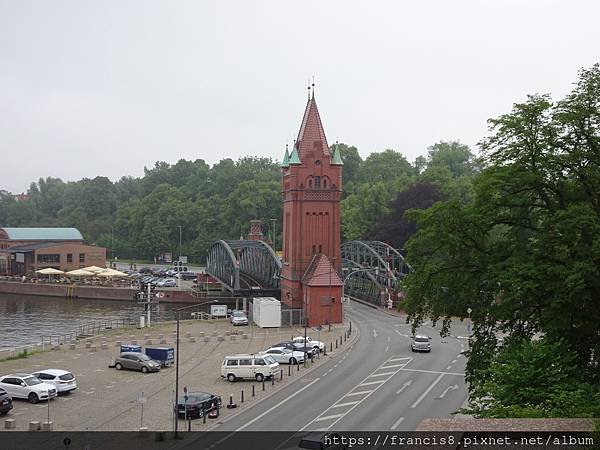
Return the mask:
<svg viewBox="0 0 600 450">
<path fill-rule="evenodd" d="M 0 189 L 266 156 L 308 79 L 329 144 L 476 150 L 527 94 L 600 60 L 600 2 L 0 0 Z"/>
</svg>

